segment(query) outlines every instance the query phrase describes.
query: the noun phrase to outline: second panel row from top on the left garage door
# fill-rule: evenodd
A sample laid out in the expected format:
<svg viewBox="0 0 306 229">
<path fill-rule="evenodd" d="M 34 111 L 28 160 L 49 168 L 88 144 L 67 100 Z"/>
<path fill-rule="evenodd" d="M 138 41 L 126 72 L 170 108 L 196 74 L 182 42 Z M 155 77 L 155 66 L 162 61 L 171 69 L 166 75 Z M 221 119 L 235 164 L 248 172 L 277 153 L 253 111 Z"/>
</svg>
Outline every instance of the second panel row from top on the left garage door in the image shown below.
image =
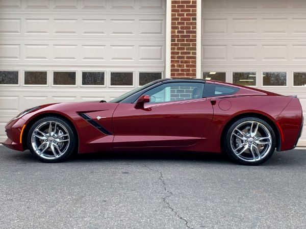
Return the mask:
<svg viewBox="0 0 306 229">
<path fill-rule="evenodd" d="M 0 16 L 0 35 L 28 38 L 164 39 L 163 15 Z"/>
</svg>

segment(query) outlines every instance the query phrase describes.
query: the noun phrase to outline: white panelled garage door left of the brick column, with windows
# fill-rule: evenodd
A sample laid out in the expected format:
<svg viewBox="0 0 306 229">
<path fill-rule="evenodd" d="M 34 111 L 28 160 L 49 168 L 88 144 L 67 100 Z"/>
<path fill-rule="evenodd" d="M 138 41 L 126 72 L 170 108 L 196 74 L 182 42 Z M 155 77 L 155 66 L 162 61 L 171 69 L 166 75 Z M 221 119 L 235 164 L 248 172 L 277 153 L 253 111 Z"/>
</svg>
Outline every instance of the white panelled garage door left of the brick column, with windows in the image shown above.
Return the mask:
<svg viewBox="0 0 306 229">
<path fill-rule="evenodd" d="M 20 111 L 163 78 L 165 0 L 1 0 L 0 141 Z"/>
</svg>

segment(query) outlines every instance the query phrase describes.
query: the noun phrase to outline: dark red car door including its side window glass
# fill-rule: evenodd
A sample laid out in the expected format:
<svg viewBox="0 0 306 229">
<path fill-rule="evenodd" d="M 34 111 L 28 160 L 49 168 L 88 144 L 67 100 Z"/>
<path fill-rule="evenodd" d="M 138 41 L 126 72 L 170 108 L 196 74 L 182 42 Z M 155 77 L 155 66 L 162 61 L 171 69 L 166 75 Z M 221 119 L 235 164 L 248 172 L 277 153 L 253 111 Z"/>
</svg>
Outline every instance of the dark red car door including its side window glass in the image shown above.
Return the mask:
<svg viewBox="0 0 306 229">
<path fill-rule="evenodd" d="M 207 132 L 213 108 L 202 98 L 204 83 L 164 83 L 144 92 L 142 108 L 119 104 L 113 114 L 114 147 L 161 147 L 196 144 Z"/>
</svg>

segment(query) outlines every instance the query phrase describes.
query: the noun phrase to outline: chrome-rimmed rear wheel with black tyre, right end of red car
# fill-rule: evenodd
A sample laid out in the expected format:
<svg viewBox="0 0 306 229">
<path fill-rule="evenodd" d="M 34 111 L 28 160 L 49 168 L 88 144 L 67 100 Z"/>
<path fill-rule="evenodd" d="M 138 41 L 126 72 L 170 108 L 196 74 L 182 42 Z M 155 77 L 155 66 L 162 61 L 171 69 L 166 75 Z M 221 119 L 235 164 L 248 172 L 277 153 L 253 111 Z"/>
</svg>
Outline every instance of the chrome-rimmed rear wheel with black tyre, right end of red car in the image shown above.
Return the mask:
<svg viewBox="0 0 306 229">
<path fill-rule="evenodd" d="M 234 121 L 226 130 L 225 150 L 236 162 L 260 165 L 273 154 L 276 138 L 271 126 L 257 117 Z"/>
</svg>

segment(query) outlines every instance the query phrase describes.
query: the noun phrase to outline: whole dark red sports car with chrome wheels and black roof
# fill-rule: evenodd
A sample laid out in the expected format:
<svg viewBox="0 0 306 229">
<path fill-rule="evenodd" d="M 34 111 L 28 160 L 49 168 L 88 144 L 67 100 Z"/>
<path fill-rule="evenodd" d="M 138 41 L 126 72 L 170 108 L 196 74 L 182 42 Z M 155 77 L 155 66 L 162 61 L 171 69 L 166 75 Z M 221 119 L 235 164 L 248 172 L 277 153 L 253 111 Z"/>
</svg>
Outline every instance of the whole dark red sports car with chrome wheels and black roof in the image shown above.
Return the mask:
<svg viewBox="0 0 306 229">
<path fill-rule="evenodd" d="M 301 135 L 296 96 L 205 80 L 163 79 L 116 99 L 35 107 L 6 125 L 2 144 L 43 162 L 104 151 L 203 151 L 259 165 Z"/>
</svg>

